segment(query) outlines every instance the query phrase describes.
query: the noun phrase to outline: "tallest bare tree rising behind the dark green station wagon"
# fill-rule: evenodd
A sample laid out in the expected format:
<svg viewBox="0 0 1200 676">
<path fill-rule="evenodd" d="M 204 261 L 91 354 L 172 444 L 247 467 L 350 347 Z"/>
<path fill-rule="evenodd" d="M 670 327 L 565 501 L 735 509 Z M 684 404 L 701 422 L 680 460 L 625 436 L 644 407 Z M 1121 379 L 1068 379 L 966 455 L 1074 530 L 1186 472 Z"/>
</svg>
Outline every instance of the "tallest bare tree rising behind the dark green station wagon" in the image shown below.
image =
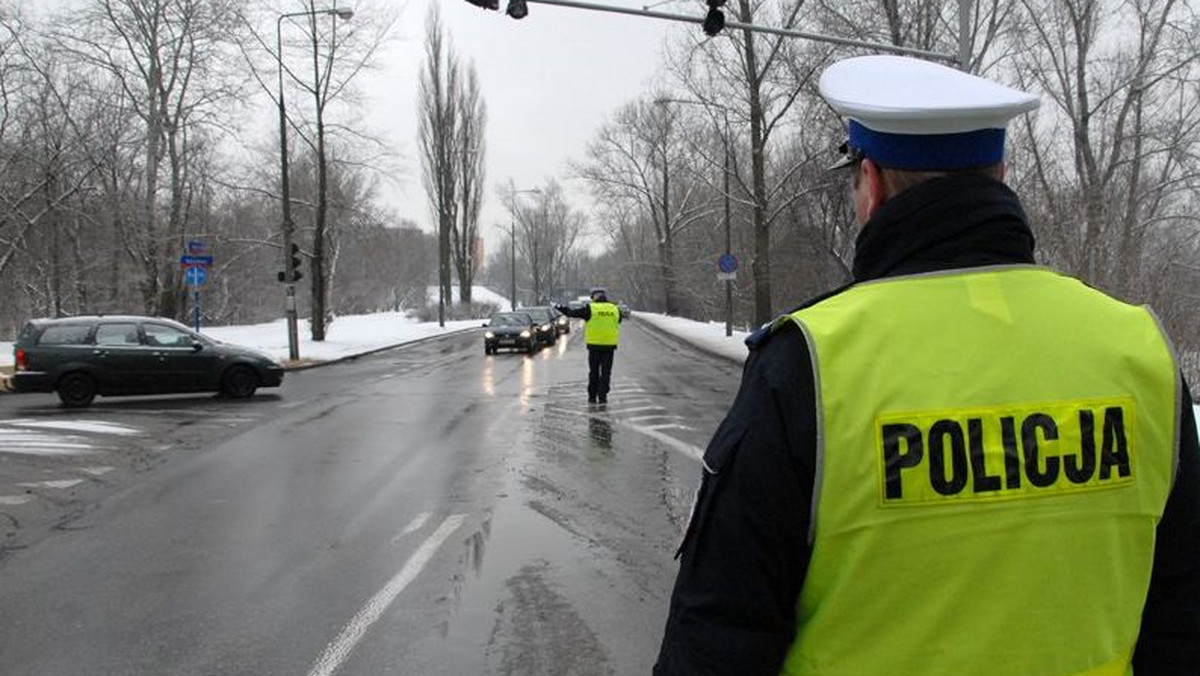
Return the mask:
<svg viewBox="0 0 1200 676">
<path fill-rule="evenodd" d="M 143 127 L 140 208 L 126 237 L 142 269 L 144 309 L 179 316 L 182 280 L 172 252 L 185 239 L 190 140 L 194 125 L 211 121 L 235 91 L 223 68 L 236 34 L 232 0 L 90 0 L 72 17 L 59 44 L 112 77 Z"/>
</svg>

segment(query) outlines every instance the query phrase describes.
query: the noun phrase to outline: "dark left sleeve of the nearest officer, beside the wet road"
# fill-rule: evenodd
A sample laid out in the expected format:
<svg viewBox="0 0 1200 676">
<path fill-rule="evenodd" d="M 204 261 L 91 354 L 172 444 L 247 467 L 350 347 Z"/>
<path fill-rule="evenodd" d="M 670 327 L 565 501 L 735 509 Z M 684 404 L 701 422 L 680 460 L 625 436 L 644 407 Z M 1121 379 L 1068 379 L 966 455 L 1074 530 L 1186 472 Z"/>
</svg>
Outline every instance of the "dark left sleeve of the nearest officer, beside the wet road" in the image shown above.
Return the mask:
<svg viewBox="0 0 1200 676">
<path fill-rule="evenodd" d="M 778 676 L 808 568 L 816 444 L 798 330 L 751 353 L 704 451 L 655 676 Z"/>
</svg>

